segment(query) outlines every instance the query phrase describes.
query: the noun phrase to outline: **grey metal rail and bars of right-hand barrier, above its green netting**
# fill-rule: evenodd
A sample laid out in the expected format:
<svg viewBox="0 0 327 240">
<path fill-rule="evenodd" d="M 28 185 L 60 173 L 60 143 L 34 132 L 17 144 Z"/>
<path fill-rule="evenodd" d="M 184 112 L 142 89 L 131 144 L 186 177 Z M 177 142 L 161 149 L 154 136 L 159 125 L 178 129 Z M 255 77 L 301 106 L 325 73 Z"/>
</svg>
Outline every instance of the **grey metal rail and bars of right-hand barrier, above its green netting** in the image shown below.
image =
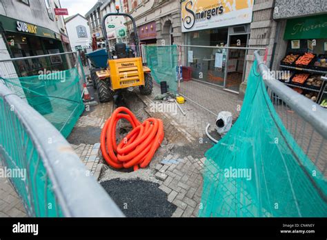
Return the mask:
<svg viewBox="0 0 327 240">
<path fill-rule="evenodd" d="M 271 101 L 284 126 L 326 177 L 327 110 L 277 81 L 261 60 L 258 51 L 255 52 L 255 59 Z"/>
</svg>

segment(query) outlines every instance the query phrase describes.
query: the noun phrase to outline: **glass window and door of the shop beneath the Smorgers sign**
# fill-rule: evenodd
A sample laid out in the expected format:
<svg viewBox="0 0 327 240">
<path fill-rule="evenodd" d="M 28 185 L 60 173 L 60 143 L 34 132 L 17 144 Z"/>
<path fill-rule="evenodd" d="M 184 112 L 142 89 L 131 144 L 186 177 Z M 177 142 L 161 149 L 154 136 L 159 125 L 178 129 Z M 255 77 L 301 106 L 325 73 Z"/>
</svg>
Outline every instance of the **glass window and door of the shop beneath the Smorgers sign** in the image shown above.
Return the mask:
<svg viewBox="0 0 327 240">
<path fill-rule="evenodd" d="M 199 30 L 188 32 L 186 36 L 187 45 L 190 46 L 229 46 L 238 48 L 248 46 L 247 26 Z M 192 51 L 191 54 L 190 51 Z M 216 63 L 217 53 L 222 54 L 221 66 L 217 66 Z M 239 91 L 239 85 L 244 81 L 246 50 L 187 47 L 186 55 L 188 64 L 192 68 L 193 79 L 206 81 L 235 92 Z M 191 61 L 190 56 L 192 56 Z M 226 61 L 227 58 L 228 61 Z"/>
</svg>

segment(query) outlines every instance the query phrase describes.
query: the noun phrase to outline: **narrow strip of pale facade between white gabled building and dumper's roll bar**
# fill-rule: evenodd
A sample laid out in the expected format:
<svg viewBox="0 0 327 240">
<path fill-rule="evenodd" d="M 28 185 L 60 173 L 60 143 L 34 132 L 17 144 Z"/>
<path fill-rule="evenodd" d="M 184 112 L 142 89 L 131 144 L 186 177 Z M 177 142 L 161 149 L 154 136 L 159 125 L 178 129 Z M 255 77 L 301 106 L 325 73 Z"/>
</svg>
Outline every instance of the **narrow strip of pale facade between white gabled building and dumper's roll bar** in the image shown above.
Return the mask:
<svg viewBox="0 0 327 240">
<path fill-rule="evenodd" d="M 101 6 L 103 5 L 104 1 L 99 0 L 95 3 L 88 13 L 86 13 L 85 18 L 88 20 L 88 26 L 90 28 L 90 32 L 92 36 L 97 37 L 98 47 L 104 47 L 104 37 L 102 33 L 102 12 Z"/>
</svg>

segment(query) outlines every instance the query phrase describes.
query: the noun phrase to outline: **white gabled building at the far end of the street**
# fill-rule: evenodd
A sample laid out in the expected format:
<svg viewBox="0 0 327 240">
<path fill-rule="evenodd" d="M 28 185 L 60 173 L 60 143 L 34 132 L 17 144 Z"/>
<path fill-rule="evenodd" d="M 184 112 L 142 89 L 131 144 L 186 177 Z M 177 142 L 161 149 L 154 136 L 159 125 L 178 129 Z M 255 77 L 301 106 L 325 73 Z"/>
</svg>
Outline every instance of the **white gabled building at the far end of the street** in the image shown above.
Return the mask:
<svg viewBox="0 0 327 240">
<path fill-rule="evenodd" d="M 90 48 L 92 36 L 88 20 L 81 14 L 75 14 L 66 18 L 65 23 L 72 50 Z"/>
</svg>

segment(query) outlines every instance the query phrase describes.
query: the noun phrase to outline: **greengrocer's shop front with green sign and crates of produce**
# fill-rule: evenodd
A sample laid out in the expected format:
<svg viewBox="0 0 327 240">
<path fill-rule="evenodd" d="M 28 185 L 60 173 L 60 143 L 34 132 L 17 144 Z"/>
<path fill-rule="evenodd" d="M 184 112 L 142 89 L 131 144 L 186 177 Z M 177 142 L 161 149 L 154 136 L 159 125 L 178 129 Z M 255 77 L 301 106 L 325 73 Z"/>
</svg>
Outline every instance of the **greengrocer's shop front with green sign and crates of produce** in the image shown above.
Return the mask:
<svg viewBox="0 0 327 240">
<path fill-rule="evenodd" d="M 279 20 L 284 33 L 277 79 L 327 108 L 327 14 Z"/>
</svg>

